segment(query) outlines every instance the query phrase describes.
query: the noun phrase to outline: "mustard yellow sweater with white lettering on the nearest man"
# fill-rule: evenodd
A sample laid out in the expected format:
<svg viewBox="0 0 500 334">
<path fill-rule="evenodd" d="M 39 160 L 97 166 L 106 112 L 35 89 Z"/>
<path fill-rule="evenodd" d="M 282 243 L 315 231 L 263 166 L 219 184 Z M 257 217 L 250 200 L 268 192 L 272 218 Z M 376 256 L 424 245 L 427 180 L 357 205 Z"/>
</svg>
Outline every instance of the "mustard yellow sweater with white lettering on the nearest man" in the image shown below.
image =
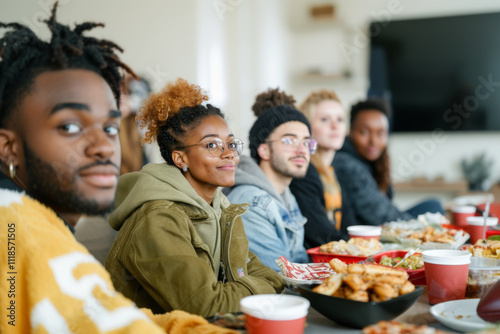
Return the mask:
<svg viewBox="0 0 500 334">
<path fill-rule="evenodd" d="M 138 309 L 52 210 L 21 193 L 0 189 L 0 229 L 0 333 L 235 333 Z"/>
</svg>

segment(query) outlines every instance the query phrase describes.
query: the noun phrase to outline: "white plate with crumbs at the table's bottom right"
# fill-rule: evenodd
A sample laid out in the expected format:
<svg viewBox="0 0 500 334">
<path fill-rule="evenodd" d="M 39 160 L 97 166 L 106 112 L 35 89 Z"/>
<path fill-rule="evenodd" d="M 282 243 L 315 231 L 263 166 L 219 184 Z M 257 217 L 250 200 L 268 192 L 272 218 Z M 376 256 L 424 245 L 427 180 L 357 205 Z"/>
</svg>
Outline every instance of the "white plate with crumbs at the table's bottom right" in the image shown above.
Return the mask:
<svg viewBox="0 0 500 334">
<path fill-rule="evenodd" d="M 444 326 L 459 332 L 472 332 L 493 327 L 477 314 L 479 298 L 452 300 L 431 307 L 432 316 Z"/>
</svg>

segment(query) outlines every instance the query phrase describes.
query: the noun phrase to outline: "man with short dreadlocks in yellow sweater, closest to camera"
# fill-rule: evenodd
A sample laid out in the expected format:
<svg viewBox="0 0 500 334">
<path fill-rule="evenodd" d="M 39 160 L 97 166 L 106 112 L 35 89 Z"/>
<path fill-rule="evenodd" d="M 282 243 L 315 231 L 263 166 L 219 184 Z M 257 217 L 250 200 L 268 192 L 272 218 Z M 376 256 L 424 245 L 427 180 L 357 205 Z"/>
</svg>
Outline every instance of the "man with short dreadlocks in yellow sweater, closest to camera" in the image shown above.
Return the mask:
<svg viewBox="0 0 500 334">
<path fill-rule="evenodd" d="M 81 214 L 113 207 L 119 70 L 132 71 L 117 45 L 83 35 L 102 24 L 71 30 L 56 6 L 48 43 L 0 23 L 0 332 L 233 332 L 181 311 L 139 310 L 74 239 Z"/>
</svg>

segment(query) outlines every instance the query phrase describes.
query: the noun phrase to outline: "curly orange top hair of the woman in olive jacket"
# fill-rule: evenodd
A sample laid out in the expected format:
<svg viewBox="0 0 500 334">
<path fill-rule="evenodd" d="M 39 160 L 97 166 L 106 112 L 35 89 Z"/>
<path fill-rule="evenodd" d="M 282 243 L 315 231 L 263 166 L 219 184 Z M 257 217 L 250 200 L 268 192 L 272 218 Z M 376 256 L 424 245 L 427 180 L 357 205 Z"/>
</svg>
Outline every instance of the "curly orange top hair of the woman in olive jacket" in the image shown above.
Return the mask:
<svg viewBox="0 0 500 334">
<path fill-rule="evenodd" d="M 168 83 L 159 93 L 152 94 L 136 116 L 142 129 L 147 128 L 143 143 L 151 143 L 157 139 L 160 127 L 167 124 L 169 117 L 174 116 L 184 107 L 194 107 L 207 101 L 208 96 L 195 84 L 179 78 Z"/>
</svg>

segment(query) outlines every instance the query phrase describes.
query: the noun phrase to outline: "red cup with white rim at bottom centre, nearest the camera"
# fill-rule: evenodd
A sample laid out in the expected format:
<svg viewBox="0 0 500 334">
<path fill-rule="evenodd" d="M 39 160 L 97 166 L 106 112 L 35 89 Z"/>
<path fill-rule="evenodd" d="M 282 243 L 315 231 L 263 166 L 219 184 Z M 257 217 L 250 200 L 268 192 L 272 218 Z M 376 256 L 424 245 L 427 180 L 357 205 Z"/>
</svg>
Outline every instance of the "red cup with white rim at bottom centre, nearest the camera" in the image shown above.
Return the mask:
<svg viewBox="0 0 500 334">
<path fill-rule="evenodd" d="M 292 295 L 254 295 L 240 301 L 247 334 L 303 334 L 309 301 Z"/>
</svg>

